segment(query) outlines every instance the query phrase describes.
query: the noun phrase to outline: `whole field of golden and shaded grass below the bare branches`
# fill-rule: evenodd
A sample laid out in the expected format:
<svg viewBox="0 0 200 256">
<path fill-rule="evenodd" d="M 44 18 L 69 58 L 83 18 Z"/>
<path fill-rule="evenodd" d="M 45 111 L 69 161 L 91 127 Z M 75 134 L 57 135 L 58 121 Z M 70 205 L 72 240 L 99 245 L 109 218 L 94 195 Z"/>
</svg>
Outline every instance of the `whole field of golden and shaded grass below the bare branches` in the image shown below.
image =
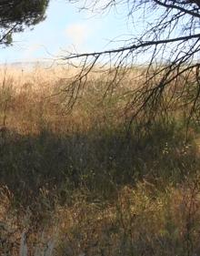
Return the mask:
<svg viewBox="0 0 200 256">
<path fill-rule="evenodd" d="M 0 255 L 200 255 L 197 124 L 127 133 L 131 79 L 102 100 L 91 77 L 66 113 L 67 72 L 1 69 Z"/>
</svg>

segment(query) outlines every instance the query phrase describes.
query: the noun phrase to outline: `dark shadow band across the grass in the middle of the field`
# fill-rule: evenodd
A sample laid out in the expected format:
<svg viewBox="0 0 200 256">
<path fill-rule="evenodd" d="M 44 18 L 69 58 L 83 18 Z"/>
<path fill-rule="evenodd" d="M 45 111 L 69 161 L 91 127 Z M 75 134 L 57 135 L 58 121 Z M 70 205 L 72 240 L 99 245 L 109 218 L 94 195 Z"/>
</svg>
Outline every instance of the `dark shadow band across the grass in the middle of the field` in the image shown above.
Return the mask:
<svg viewBox="0 0 200 256">
<path fill-rule="evenodd" d="M 156 125 L 151 133 L 126 137 L 122 129 L 94 130 L 86 134 L 38 135 L 5 130 L 0 148 L 0 183 L 15 202 L 34 205 L 41 194 L 70 203 L 75 189 L 85 189 L 90 200 L 115 197 L 121 186 L 138 179 L 179 182 L 199 165 L 193 143 L 185 145 L 175 124 Z"/>
</svg>

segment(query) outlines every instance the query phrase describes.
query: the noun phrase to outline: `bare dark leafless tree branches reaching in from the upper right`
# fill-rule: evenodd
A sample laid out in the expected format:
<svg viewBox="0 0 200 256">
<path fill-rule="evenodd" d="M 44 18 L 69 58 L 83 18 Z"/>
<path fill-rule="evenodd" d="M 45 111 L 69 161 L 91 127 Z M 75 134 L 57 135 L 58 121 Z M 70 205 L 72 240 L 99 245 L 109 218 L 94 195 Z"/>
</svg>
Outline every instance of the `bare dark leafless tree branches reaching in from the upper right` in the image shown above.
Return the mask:
<svg viewBox="0 0 200 256">
<path fill-rule="evenodd" d="M 82 3 L 80 0 L 69 2 Z M 81 9 L 104 13 L 122 6 L 127 18 L 133 18 L 133 25 L 138 11 L 143 10 L 143 16 L 138 16 L 145 23 L 141 34 L 121 40 L 122 46 L 117 48 L 66 53 L 62 57 L 69 65 L 79 68 L 62 90 L 68 98 L 68 108 L 74 106 L 83 92 L 90 73 L 98 70 L 104 77 L 108 75 L 106 95 L 123 77 L 133 74 L 135 67 L 141 67 L 140 84 L 124 92 L 129 96 L 125 114 L 130 124 L 137 117 L 146 123 L 158 116 L 166 118 L 170 111 L 178 108 L 186 112 L 188 119 L 199 118 L 200 1 L 110 0 L 105 3 L 96 0 L 83 2 Z M 145 61 L 138 61 L 144 58 Z M 134 83 L 133 76 L 132 79 Z"/>
</svg>

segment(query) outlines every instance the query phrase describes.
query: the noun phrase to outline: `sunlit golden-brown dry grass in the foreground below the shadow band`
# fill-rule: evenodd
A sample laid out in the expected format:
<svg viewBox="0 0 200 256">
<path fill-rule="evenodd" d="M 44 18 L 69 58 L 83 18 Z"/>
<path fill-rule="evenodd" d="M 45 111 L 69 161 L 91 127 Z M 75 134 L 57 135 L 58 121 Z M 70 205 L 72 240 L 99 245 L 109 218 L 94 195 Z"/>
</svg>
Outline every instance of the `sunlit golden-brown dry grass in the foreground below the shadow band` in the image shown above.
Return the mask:
<svg viewBox="0 0 200 256">
<path fill-rule="evenodd" d="M 5 239 L 1 253 L 18 255 L 19 248 L 20 256 L 198 255 L 200 191 L 196 182 L 199 179 L 163 191 L 139 182 L 135 188 L 120 189 L 113 203 L 88 202 L 79 192 L 71 206 L 56 205 L 51 218 L 37 227 L 28 210 L 20 220 L 10 215 L 9 228 L 1 231 L 1 240 Z"/>
</svg>

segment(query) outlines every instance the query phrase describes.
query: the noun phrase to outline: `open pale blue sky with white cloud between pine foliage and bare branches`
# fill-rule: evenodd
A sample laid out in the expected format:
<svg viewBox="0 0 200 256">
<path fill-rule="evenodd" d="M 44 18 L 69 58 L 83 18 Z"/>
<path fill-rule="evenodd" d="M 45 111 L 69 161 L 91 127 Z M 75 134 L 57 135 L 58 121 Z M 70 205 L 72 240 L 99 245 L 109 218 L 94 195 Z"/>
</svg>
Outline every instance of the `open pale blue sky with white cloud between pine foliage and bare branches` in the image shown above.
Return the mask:
<svg viewBox="0 0 200 256">
<path fill-rule="evenodd" d="M 83 3 L 83 2 L 82 2 Z M 1 48 L 0 63 L 45 61 L 66 51 L 85 52 L 113 48 L 110 42 L 130 33 L 123 10 L 93 15 L 65 0 L 51 0 L 44 22 L 14 35 L 14 45 Z"/>
</svg>

